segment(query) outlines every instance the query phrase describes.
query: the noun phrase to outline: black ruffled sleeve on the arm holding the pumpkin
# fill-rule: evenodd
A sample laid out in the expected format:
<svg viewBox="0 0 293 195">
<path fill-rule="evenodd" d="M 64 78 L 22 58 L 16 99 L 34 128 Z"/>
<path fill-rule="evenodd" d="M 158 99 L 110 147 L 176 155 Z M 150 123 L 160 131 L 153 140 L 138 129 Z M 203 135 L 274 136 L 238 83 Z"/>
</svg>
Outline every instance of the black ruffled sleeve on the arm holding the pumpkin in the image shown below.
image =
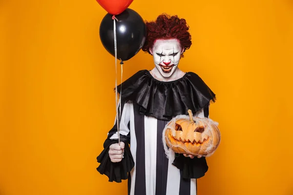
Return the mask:
<svg viewBox="0 0 293 195">
<path fill-rule="evenodd" d="M 209 106 L 203 108 L 204 116 L 209 117 Z M 206 157 L 194 157 L 189 158 L 183 156 L 183 154 L 175 153 L 175 159 L 172 163 L 175 167 L 182 170 L 183 178 L 200 178 L 205 176 L 205 173 L 208 171 L 209 167 L 207 164 Z"/>
</svg>

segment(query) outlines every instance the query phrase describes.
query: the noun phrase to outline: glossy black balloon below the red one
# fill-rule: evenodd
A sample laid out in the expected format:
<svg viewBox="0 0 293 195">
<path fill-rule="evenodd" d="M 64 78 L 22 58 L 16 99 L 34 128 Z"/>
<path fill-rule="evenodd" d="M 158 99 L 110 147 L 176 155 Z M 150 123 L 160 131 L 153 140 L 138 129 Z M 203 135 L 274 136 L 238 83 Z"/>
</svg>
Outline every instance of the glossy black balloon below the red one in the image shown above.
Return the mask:
<svg viewBox="0 0 293 195">
<path fill-rule="evenodd" d="M 146 40 L 146 24 L 134 10 L 127 8 L 115 16 L 117 59 L 131 59 L 143 47 Z M 100 39 L 105 49 L 115 57 L 114 23 L 111 14 L 106 14 L 100 25 Z"/>
</svg>

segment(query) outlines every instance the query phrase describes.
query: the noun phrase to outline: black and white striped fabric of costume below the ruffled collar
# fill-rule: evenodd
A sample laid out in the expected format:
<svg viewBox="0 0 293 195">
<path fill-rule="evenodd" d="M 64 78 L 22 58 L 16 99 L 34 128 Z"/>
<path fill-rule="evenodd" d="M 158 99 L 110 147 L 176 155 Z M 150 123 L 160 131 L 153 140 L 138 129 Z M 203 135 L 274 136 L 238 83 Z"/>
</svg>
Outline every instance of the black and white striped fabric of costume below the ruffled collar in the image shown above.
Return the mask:
<svg viewBox="0 0 293 195">
<path fill-rule="evenodd" d="M 196 179 L 183 179 L 181 171 L 172 165 L 175 154 L 169 159 L 162 142 L 163 130 L 168 121 L 139 114 L 136 104 L 124 105 L 120 134 L 129 136 L 130 151 L 135 166 L 128 176 L 128 195 L 196 195 Z M 209 117 L 209 108 L 196 113 Z M 111 139 L 117 139 L 117 133 Z"/>
</svg>

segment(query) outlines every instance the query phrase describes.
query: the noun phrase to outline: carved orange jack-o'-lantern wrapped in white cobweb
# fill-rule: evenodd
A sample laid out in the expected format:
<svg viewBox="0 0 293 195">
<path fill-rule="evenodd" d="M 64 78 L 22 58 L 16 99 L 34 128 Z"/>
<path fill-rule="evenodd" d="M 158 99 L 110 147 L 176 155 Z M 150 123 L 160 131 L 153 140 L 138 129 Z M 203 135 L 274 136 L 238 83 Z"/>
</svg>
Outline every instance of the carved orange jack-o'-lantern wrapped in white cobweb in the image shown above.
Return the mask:
<svg viewBox="0 0 293 195">
<path fill-rule="evenodd" d="M 221 139 L 218 123 L 209 118 L 193 117 L 191 110 L 188 114 L 189 117 L 177 116 L 166 125 L 163 141 L 175 153 L 211 156 Z M 166 146 L 165 150 L 168 155 Z"/>
</svg>

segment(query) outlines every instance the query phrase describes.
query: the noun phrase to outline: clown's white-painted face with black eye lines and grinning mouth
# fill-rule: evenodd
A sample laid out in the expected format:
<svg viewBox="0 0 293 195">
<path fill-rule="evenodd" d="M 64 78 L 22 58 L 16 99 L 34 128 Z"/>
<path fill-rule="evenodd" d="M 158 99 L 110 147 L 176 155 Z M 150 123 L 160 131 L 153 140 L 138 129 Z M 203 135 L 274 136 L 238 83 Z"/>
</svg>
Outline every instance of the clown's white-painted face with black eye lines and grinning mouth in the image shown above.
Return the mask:
<svg viewBox="0 0 293 195">
<path fill-rule="evenodd" d="M 177 39 L 157 39 L 150 50 L 158 72 L 169 78 L 178 67 L 183 49 Z"/>
</svg>

